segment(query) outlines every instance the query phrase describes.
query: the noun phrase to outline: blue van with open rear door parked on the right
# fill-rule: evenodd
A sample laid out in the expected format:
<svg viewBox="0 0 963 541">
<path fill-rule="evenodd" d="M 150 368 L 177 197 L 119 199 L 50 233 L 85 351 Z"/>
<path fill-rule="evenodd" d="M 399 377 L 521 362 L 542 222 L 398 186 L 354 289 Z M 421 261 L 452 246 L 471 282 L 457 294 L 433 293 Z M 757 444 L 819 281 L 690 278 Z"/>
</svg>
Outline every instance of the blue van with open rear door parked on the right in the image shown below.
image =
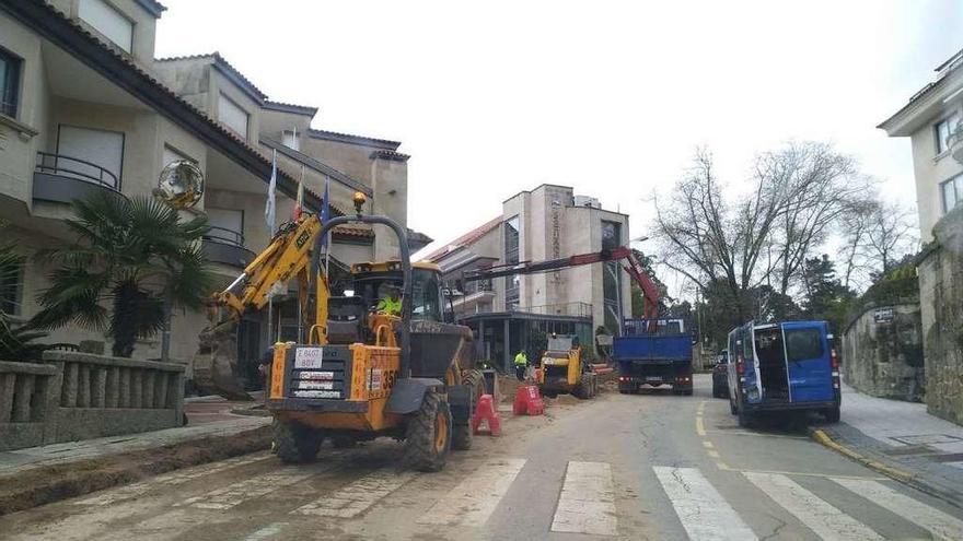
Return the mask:
<svg viewBox="0 0 963 541">
<path fill-rule="evenodd" d="M 839 421 L 839 360 L 825 321 L 750 321 L 729 332 L 729 408 L 739 425 L 810 410 Z"/>
</svg>

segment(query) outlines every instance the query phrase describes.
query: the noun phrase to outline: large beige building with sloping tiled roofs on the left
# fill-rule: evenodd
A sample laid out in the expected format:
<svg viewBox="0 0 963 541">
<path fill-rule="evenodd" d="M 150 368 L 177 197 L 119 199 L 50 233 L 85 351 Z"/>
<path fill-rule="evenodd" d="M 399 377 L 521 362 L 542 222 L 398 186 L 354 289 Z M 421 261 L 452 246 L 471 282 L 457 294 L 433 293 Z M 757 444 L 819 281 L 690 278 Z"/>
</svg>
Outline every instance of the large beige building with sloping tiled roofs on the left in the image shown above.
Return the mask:
<svg viewBox="0 0 963 541">
<path fill-rule="evenodd" d="M 3 308 L 18 320 L 37 310 L 49 268 L 38 249 L 72 242 L 63 220 L 71 201 L 104 192 L 150 195 L 160 172 L 189 160 L 206 192 L 187 213 L 212 225 L 204 249 L 224 285 L 267 246 L 265 202 L 277 154 L 277 223 L 290 219 L 298 181 L 309 211 L 321 208 L 325 183 L 335 214 L 364 192 L 370 212 L 407 223 L 407 160 L 397 141 L 313 129 L 317 109 L 272 102 L 219 54 L 155 59 L 154 35 L 164 7 L 153 0 L 0 2 L 0 235 L 28 256 L 16 283 L 3 284 Z M 391 238 L 388 238 L 391 237 Z M 430 238 L 409 231 L 415 249 Z M 332 252 L 339 264 L 397 255 L 393 235 L 339 227 Z M 295 308 L 279 299 L 289 334 Z M 264 314 L 242 324 L 243 357 L 268 342 Z M 279 325 L 278 325 L 279 324 Z M 201 314 L 175 314 L 171 355 L 189 360 Z M 104 342 L 102 333 L 55 331 L 51 341 Z M 109 351 L 109 344 L 104 344 Z M 136 356 L 156 357 L 159 338 Z"/>
</svg>

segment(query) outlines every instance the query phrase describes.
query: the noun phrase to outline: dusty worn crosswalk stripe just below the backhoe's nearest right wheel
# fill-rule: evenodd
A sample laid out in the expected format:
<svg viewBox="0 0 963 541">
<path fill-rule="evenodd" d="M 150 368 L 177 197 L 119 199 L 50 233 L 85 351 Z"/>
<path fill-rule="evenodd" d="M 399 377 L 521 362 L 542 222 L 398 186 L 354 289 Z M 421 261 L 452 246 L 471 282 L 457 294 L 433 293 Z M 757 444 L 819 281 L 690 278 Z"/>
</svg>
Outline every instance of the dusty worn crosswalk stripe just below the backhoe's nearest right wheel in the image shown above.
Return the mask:
<svg viewBox="0 0 963 541">
<path fill-rule="evenodd" d="M 320 517 L 353 518 L 374 505 L 379 499 L 398 490 L 415 477 L 411 472 L 398 473 L 394 469 L 375 471 L 353 483 L 302 505 L 291 513 Z"/>
</svg>

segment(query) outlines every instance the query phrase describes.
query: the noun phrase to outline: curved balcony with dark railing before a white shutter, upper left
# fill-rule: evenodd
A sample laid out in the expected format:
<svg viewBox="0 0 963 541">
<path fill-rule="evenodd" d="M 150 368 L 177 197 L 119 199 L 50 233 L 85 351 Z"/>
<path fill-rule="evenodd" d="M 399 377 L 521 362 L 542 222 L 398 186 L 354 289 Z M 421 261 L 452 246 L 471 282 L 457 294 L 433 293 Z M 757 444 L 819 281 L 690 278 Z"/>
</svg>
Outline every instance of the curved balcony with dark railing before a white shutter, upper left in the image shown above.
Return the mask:
<svg viewBox="0 0 963 541">
<path fill-rule="evenodd" d="M 109 169 L 86 160 L 37 152 L 34 165 L 34 200 L 69 203 L 100 192 L 120 195 L 120 178 Z"/>
</svg>

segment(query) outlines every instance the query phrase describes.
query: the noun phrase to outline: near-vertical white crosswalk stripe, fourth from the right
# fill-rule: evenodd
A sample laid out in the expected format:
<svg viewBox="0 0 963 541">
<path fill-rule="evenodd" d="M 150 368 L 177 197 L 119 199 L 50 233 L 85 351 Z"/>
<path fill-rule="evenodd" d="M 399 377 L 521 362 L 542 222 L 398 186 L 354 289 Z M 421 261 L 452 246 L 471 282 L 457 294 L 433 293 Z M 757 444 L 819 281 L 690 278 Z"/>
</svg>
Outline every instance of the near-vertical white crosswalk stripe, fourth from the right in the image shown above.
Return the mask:
<svg viewBox="0 0 963 541">
<path fill-rule="evenodd" d="M 552 531 L 615 536 L 618 521 L 612 468 L 605 462 L 568 463 Z"/>
</svg>

